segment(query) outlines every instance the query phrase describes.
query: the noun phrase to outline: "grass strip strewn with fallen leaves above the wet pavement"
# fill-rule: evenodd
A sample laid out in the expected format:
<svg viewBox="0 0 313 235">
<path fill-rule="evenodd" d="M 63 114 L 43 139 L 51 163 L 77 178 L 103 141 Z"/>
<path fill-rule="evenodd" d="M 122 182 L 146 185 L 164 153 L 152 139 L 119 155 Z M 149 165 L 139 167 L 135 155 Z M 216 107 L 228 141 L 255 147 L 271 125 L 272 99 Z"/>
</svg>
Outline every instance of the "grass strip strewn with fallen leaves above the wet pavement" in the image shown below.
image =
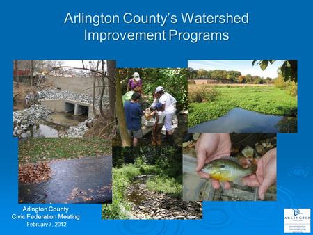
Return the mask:
<svg viewBox="0 0 313 235">
<path fill-rule="evenodd" d="M 103 138 L 28 138 L 19 141 L 19 163 L 111 154 L 111 140 Z"/>
</svg>

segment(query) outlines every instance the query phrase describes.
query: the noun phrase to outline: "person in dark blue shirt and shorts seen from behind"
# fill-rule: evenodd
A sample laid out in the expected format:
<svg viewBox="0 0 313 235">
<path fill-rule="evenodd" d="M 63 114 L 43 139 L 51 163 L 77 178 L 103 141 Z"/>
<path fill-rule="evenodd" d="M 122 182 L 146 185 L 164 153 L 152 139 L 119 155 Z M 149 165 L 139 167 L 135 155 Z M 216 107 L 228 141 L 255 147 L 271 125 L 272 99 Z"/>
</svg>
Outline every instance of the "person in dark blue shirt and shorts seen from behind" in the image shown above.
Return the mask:
<svg viewBox="0 0 313 235">
<path fill-rule="evenodd" d="M 138 103 L 138 100 L 141 99 L 141 94 L 135 92 L 131 95 L 131 101 L 125 101 L 125 118 L 127 123 L 127 131 L 129 136 L 133 138 L 133 146 L 137 146 L 138 138 L 143 137 L 143 132 L 141 131 L 141 116 L 143 111 L 141 104 Z"/>
</svg>

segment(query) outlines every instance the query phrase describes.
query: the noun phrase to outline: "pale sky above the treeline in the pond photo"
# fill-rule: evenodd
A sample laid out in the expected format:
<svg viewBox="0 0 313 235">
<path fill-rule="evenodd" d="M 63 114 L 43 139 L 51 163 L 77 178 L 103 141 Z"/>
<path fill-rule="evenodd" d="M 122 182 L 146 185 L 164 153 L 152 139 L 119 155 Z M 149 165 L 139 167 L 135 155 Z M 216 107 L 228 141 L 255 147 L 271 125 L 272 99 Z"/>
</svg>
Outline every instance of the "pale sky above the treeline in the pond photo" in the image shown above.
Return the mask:
<svg viewBox="0 0 313 235">
<path fill-rule="evenodd" d="M 284 60 L 276 60 L 273 65 L 270 63 L 266 70 L 261 70 L 259 65 L 252 66 L 253 60 L 188 60 L 188 67 L 194 70 L 236 70 L 242 75 L 251 74 L 252 76 L 262 76 L 275 78 L 278 76 L 278 67 L 284 63 Z"/>
</svg>

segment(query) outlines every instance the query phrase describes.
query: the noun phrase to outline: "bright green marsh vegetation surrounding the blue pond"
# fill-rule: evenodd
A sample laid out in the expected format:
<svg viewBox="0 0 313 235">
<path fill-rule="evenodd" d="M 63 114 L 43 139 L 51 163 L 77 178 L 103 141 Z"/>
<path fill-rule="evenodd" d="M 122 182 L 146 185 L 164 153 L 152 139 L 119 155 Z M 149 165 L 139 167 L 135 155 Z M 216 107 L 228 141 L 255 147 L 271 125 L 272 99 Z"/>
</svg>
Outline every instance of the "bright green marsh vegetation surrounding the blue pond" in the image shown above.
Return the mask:
<svg viewBox="0 0 313 235">
<path fill-rule="evenodd" d="M 202 86 L 188 84 L 188 92 Z M 217 96 L 211 102 L 188 104 L 188 127 L 214 120 L 228 113 L 232 108 L 270 115 L 294 116 L 297 98 L 274 86 L 216 86 Z"/>
</svg>

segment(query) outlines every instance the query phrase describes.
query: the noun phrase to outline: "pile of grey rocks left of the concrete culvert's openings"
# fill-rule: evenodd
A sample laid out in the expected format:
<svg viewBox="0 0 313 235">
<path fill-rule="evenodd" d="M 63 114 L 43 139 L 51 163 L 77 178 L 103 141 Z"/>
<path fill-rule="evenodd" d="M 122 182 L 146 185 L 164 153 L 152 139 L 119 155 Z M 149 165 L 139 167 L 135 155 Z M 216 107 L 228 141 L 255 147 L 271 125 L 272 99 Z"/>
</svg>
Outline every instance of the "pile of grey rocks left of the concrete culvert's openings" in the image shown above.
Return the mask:
<svg viewBox="0 0 313 235">
<path fill-rule="evenodd" d="M 20 136 L 28 127 L 40 120 L 45 120 L 51 113 L 45 106 L 33 104 L 22 111 L 13 112 L 13 136 Z"/>
</svg>

